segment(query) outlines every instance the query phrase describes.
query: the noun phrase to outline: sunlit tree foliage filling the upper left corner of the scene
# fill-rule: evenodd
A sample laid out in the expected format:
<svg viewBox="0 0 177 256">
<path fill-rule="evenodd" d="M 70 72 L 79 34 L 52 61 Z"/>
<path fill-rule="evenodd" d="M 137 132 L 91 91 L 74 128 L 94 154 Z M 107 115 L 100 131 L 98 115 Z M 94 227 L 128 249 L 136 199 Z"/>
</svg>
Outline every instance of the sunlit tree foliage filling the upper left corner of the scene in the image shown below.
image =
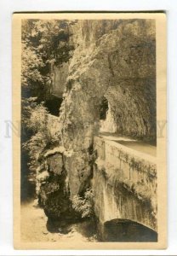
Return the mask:
<svg viewBox="0 0 177 256">
<path fill-rule="evenodd" d="M 70 24 L 67 20 L 22 20 L 21 84 L 30 96 L 44 99 L 52 65 L 60 66 L 71 58 Z"/>
</svg>

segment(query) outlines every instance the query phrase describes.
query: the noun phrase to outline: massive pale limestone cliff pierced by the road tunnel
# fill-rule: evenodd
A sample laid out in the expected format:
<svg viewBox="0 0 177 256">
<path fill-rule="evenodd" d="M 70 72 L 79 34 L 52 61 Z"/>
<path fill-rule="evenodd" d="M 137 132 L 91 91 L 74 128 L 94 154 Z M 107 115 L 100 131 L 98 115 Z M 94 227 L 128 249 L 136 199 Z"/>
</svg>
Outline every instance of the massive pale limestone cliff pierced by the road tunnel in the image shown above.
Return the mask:
<svg viewBox="0 0 177 256">
<path fill-rule="evenodd" d="M 156 137 L 156 44 L 153 20 L 81 20 L 61 107 L 71 195 L 92 177 L 90 148 L 100 129 L 100 102 L 111 106 L 117 132 Z M 87 185 L 85 185 L 87 184 Z"/>
</svg>

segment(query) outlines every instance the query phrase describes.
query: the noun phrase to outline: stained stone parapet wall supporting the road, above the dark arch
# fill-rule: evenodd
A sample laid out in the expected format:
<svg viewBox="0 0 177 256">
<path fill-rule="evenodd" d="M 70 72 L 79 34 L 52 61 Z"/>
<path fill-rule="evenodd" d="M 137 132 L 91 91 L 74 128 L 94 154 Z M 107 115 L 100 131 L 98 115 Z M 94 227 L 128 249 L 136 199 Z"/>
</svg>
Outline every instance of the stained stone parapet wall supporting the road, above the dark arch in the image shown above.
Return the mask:
<svg viewBox="0 0 177 256">
<path fill-rule="evenodd" d="M 94 150 L 98 218 L 102 222 L 127 218 L 157 230 L 156 158 L 102 137 L 94 137 Z"/>
</svg>

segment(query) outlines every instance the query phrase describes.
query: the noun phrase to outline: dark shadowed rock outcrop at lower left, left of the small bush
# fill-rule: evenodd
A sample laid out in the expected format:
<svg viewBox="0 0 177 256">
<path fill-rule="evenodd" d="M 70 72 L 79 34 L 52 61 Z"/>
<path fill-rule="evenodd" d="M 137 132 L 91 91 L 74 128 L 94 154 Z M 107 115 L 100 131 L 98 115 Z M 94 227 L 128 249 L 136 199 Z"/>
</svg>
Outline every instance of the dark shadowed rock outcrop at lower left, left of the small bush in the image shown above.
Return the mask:
<svg viewBox="0 0 177 256">
<path fill-rule="evenodd" d="M 70 218 L 72 210 L 66 175 L 62 155 L 58 153 L 47 156 L 37 173 L 39 205 L 49 219 Z"/>
</svg>

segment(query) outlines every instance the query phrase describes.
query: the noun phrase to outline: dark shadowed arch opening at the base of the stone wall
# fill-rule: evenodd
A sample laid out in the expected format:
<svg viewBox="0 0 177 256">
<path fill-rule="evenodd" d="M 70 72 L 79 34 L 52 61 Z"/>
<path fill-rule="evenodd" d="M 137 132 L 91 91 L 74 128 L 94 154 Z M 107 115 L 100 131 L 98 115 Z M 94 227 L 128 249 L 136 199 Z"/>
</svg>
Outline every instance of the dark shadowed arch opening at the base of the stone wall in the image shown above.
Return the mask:
<svg viewBox="0 0 177 256">
<path fill-rule="evenodd" d="M 157 241 L 157 232 L 128 219 L 112 219 L 104 224 L 104 241 Z"/>
</svg>

